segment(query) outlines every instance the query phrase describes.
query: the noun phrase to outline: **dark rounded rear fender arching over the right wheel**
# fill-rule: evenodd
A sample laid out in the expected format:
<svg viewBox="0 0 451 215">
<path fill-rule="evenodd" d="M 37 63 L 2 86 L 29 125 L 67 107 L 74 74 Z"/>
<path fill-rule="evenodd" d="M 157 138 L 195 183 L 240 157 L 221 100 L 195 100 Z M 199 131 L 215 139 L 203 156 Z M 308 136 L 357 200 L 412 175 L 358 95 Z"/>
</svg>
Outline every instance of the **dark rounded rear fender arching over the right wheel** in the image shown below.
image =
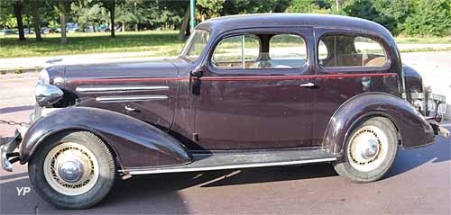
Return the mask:
<svg viewBox="0 0 451 215">
<path fill-rule="evenodd" d="M 336 110 L 328 123 L 323 146 L 331 153 L 342 153 L 348 133 L 371 116 L 389 118 L 399 131 L 403 148 L 434 142 L 434 130 L 410 103 L 391 94 L 365 93 L 347 100 Z"/>
</svg>

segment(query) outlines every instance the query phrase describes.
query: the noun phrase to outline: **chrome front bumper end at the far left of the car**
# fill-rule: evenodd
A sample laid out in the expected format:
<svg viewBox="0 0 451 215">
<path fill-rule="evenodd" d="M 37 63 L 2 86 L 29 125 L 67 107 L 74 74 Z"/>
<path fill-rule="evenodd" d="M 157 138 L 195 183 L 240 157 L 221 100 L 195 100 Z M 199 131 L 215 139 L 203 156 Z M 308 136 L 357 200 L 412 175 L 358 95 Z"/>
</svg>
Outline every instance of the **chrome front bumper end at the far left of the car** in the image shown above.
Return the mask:
<svg viewBox="0 0 451 215">
<path fill-rule="evenodd" d="M 2 168 L 5 171 L 12 172 L 13 164 L 20 160 L 19 153 L 14 152 L 22 141 L 22 135 L 19 130 L 15 130 L 13 138 L 3 138 L 0 140 L 0 158 Z"/>
</svg>

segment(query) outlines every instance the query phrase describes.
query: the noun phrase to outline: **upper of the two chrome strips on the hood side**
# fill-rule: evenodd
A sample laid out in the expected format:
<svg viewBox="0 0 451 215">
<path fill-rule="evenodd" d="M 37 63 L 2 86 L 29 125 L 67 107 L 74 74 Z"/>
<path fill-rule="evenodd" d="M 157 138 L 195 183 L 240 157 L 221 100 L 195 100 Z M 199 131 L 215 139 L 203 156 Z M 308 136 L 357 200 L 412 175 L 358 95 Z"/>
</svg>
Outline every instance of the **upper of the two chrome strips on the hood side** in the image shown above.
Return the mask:
<svg viewBox="0 0 451 215">
<path fill-rule="evenodd" d="M 80 85 L 77 93 L 98 93 L 110 91 L 159 91 L 169 90 L 167 85 Z"/>
</svg>

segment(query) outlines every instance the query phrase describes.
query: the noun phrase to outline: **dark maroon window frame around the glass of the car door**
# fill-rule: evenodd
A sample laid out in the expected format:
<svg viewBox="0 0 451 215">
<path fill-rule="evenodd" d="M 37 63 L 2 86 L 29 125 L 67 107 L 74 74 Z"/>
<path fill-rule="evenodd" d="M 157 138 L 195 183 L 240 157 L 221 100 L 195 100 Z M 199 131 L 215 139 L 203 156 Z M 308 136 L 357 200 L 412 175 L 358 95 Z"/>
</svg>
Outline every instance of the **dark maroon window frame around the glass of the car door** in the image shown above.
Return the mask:
<svg viewBox="0 0 451 215">
<path fill-rule="evenodd" d="M 311 35 L 308 34 L 307 31 L 311 31 Z M 217 45 L 227 37 L 232 37 L 236 35 L 243 34 L 294 34 L 302 38 L 302 40 L 306 43 L 306 63 L 303 67 L 292 67 L 292 68 L 220 68 L 214 67 L 211 62 L 211 58 L 213 58 L 213 54 L 216 50 Z M 313 29 L 311 28 L 303 28 L 302 26 L 283 26 L 283 27 L 259 27 L 259 28 L 244 28 L 244 29 L 236 29 L 232 31 L 224 31 L 221 34 L 217 35 L 214 40 L 212 40 L 212 45 L 210 46 L 207 58 L 206 58 L 206 66 L 208 70 L 217 75 L 311 75 L 308 74 L 308 71 L 311 70 L 310 67 L 313 65 L 314 55 L 311 52 L 314 49 L 312 45 L 310 47 L 309 42 L 313 42 L 313 37 L 311 37 L 311 41 L 308 40 L 308 36 L 313 35 Z"/>
</svg>

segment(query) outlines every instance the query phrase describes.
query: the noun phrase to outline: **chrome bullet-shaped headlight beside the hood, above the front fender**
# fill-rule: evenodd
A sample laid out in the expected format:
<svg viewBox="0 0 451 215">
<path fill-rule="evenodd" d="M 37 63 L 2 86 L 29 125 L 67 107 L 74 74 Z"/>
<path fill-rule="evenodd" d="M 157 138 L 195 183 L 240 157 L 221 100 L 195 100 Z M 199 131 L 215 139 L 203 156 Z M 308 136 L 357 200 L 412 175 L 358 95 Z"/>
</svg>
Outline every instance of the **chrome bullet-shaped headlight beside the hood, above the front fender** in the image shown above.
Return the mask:
<svg viewBox="0 0 451 215">
<path fill-rule="evenodd" d="M 41 107 L 51 107 L 51 104 L 57 103 L 63 96 L 60 88 L 54 85 L 38 82 L 34 90 L 34 98 L 36 103 Z"/>
</svg>

